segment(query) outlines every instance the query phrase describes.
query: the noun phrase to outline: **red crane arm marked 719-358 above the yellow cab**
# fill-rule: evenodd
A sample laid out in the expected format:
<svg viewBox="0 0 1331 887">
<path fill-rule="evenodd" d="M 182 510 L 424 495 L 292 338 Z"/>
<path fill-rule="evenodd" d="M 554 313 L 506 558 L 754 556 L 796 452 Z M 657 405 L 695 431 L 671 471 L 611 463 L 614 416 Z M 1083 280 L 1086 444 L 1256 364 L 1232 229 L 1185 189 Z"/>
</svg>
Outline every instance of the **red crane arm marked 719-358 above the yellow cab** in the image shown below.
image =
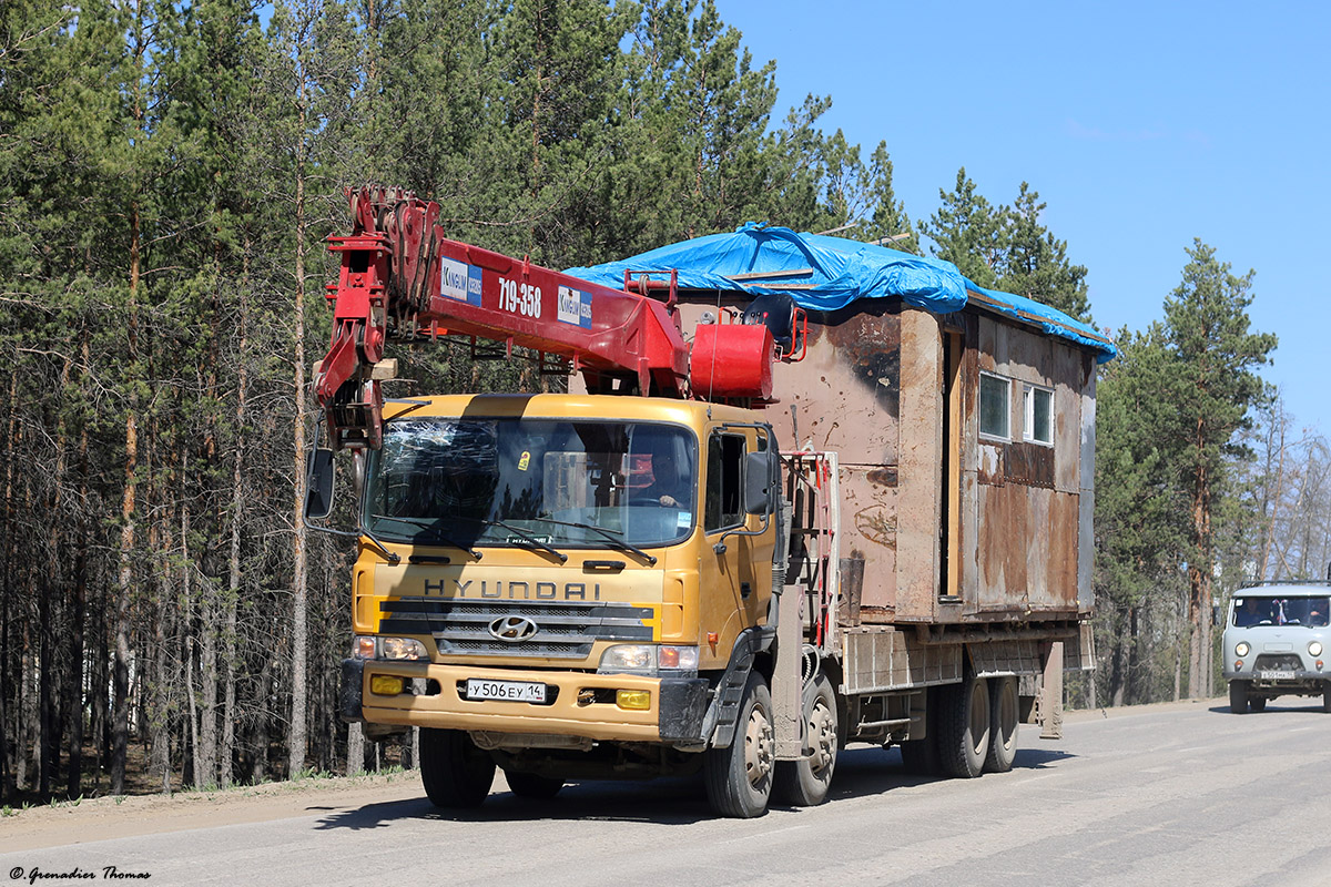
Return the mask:
<svg viewBox="0 0 1331 887">
<path fill-rule="evenodd" d="M 333 342 L 314 380 L 334 448 L 381 443 L 373 367 L 389 335 L 491 339 L 630 379 L 642 394 L 687 396 L 688 346 L 673 286 L 662 302 L 450 241 L 439 205 L 409 191 L 365 186 L 350 198 L 351 234 L 329 238 L 342 267 L 327 287 Z"/>
</svg>

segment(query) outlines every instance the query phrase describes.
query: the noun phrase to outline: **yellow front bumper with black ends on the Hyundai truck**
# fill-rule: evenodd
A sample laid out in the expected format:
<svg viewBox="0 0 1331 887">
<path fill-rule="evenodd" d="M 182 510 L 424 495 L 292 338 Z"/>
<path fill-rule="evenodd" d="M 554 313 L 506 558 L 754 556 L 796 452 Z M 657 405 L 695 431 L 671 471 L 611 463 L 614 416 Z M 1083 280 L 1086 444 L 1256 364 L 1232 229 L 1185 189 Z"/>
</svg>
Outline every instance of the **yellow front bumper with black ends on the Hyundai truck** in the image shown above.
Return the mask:
<svg viewBox="0 0 1331 887">
<path fill-rule="evenodd" d="M 407 692 L 397 696 L 371 693 L 370 681 L 379 674 L 407 678 Z M 462 688 L 469 678 L 540 682 L 546 685 L 546 696 L 551 701 L 538 705 L 467 699 Z M 423 681 L 425 693 L 411 692 L 411 682 L 415 680 Z M 651 705 L 642 710 L 620 709 L 614 702 L 615 690 L 647 690 L 651 693 Z M 342 660 L 339 693 L 341 715 L 349 723 L 363 721 L 680 745 L 703 741 L 703 717 L 709 701 L 709 685 L 701 678 L 536 672 L 382 660 Z"/>
</svg>

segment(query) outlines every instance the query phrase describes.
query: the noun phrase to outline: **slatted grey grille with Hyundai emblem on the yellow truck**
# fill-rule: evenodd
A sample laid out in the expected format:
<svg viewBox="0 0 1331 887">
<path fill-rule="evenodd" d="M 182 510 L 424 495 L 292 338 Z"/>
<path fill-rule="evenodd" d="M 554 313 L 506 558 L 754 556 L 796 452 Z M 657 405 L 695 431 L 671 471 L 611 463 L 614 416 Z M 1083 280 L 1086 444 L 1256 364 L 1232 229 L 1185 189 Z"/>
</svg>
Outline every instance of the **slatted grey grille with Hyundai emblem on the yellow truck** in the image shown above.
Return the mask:
<svg viewBox="0 0 1331 887">
<path fill-rule="evenodd" d="M 536 604 L 402 597 L 379 604 L 385 634 L 433 634 L 445 656 L 520 656 L 584 660 L 595 641 L 651 641 L 650 606 L 632 604 Z M 500 621 L 519 624 L 524 640 L 492 632 Z M 527 626 L 530 622 L 530 628 Z"/>
</svg>

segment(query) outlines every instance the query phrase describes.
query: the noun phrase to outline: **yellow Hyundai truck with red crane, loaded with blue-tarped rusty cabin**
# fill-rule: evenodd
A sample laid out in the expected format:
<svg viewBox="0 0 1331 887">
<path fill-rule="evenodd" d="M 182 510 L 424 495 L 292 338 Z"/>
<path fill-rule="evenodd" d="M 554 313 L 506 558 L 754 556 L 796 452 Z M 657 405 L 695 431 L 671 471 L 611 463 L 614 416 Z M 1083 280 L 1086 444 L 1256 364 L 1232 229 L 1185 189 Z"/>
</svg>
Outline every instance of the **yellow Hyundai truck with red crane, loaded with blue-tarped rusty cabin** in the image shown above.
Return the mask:
<svg viewBox="0 0 1331 887">
<path fill-rule="evenodd" d="M 411 194 L 351 209 L 306 511 L 350 451 L 341 714 L 421 727 L 435 805 L 495 767 L 526 797 L 700 771 L 747 818 L 820 803 L 847 742 L 969 778 L 1014 765 L 1018 723 L 1061 734 L 1110 342 L 840 238 L 744 226 L 560 274 Z M 520 347 L 570 391 L 385 398 L 395 338 Z"/>
</svg>

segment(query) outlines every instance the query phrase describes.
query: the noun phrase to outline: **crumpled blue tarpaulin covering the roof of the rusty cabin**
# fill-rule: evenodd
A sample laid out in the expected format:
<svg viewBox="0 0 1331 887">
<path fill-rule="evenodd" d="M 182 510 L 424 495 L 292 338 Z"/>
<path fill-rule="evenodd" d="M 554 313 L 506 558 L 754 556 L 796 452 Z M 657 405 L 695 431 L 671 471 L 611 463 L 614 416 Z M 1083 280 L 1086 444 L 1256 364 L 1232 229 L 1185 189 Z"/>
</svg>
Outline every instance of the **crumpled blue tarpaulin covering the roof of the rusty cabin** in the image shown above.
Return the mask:
<svg viewBox="0 0 1331 887">
<path fill-rule="evenodd" d="M 952 262 L 841 237 L 799 234 L 788 227 L 748 222 L 732 234 L 709 234 L 564 274 L 619 289 L 626 270 L 677 270 L 679 286 L 685 290 L 785 294 L 800 307 L 819 311 L 835 311 L 856 299 L 897 297 L 906 305 L 948 314 L 972 299 L 969 290 L 992 311 L 1093 348 L 1101 363 L 1118 354 L 1113 342 L 1085 323 L 1033 299 L 976 286 Z"/>
</svg>

